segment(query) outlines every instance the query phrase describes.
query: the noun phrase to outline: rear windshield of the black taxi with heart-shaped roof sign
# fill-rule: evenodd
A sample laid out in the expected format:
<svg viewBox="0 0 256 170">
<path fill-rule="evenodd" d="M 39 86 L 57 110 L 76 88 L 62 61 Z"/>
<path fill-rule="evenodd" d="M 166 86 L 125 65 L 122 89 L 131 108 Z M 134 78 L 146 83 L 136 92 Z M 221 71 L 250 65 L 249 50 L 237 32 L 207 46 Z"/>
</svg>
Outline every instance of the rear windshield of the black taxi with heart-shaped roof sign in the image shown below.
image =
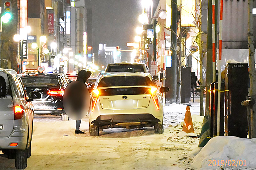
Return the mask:
<svg viewBox="0 0 256 170">
<path fill-rule="evenodd" d="M 29 78 L 22 78 L 22 82 L 24 86 L 51 86 L 51 87 L 58 87 L 59 81 L 58 79 L 54 78 L 37 78 L 37 77 L 29 77 Z"/>
</svg>

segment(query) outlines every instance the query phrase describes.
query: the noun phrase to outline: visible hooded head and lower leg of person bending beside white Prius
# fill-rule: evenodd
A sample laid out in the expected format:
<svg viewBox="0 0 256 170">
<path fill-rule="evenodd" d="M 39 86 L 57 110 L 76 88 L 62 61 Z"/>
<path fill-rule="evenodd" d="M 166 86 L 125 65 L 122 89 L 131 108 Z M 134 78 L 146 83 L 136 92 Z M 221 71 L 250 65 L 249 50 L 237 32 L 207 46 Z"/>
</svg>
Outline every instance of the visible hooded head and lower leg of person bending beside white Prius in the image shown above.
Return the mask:
<svg viewBox="0 0 256 170">
<path fill-rule="evenodd" d="M 79 71 L 78 75 L 77 75 L 77 79 L 76 81 L 80 81 L 82 83 L 84 83 L 84 85 L 87 87 L 87 85 L 85 84 L 86 80 L 88 78 L 90 78 L 90 76 L 92 75 L 91 71 L 85 71 L 85 70 L 81 70 Z M 81 124 L 81 120 L 76 121 L 76 130 L 75 130 L 75 134 L 84 134 L 84 132 L 82 132 L 80 130 L 80 124 Z"/>
</svg>

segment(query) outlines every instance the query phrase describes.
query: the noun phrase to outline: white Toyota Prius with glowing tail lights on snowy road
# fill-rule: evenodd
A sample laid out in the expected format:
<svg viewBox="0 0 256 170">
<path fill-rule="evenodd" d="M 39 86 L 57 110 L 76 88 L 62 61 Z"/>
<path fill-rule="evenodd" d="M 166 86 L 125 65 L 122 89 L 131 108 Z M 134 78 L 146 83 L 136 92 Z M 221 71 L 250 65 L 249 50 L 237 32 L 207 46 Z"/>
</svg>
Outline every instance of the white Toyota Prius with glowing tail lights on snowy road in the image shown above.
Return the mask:
<svg viewBox="0 0 256 170">
<path fill-rule="evenodd" d="M 99 129 L 153 127 L 164 133 L 163 92 L 149 73 L 109 72 L 98 77 L 89 109 L 90 136 Z"/>
</svg>

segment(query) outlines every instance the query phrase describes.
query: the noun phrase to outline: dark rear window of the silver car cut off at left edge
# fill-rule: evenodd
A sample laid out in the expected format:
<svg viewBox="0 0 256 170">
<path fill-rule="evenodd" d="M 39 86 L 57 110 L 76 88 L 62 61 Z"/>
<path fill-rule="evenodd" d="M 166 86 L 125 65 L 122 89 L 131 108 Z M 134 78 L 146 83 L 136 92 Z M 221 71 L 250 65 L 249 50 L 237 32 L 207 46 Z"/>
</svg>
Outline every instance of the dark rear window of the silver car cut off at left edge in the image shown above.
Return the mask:
<svg viewBox="0 0 256 170">
<path fill-rule="evenodd" d="M 6 73 L 0 72 L 0 98 L 11 97 L 12 90 Z"/>
</svg>

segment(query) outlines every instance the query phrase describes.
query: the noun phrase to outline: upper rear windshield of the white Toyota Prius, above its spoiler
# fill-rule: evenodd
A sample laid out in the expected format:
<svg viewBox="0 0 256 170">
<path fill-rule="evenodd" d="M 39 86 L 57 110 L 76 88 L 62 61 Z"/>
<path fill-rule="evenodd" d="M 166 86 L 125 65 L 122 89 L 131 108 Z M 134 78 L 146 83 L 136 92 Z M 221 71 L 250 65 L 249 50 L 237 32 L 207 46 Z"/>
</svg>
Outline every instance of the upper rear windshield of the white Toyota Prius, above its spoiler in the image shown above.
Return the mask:
<svg viewBox="0 0 256 170">
<path fill-rule="evenodd" d="M 97 87 L 112 87 L 112 86 L 136 86 L 150 85 L 154 83 L 146 76 L 114 76 L 102 78 Z"/>
</svg>

